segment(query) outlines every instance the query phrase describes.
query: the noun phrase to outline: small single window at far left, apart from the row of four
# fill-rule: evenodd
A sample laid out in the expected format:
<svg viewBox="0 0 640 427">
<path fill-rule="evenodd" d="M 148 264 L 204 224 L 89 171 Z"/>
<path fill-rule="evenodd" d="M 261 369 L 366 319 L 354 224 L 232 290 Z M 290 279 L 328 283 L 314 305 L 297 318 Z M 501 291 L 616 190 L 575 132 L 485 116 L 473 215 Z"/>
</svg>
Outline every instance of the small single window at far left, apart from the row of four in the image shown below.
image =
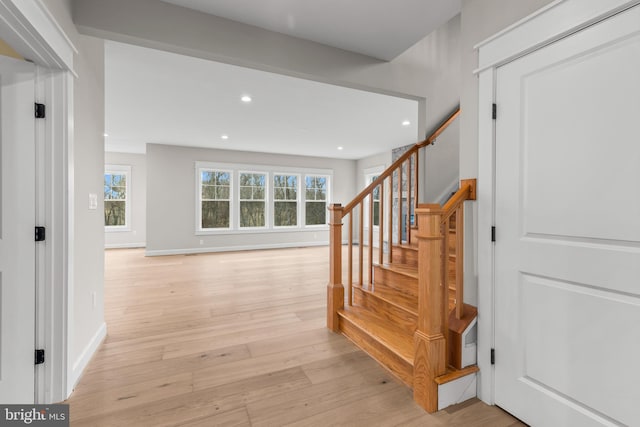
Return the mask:
<svg viewBox="0 0 640 427">
<path fill-rule="evenodd" d="M 130 230 L 130 176 L 131 166 L 105 166 L 104 225 L 107 231 Z"/>
</svg>

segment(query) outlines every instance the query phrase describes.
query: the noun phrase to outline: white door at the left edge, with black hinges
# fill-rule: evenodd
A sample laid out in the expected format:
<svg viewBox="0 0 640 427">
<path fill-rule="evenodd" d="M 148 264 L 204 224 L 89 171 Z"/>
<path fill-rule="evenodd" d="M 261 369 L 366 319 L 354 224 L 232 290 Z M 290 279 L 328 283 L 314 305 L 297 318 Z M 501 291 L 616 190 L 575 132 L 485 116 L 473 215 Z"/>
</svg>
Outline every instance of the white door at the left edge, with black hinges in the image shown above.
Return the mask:
<svg viewBox="0 0 640 427">
<path fill-rule="evenodd" d="M 0 402 L 33 403 L 34 66 L 0 56 Z"/>
</svg>

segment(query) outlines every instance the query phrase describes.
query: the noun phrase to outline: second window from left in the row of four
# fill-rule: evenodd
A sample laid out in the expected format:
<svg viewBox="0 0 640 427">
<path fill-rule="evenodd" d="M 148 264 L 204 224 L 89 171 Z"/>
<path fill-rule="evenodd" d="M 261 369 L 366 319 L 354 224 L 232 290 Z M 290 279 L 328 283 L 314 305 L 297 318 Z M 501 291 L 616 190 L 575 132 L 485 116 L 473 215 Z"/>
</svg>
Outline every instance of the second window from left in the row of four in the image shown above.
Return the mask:
<svg viewBox="0 0 640 427">
<path fill-rule="evenodd" d="M 240 228 L 266 225 L 266 181 L 264 173 L 240 173 Z"/>
</svg>

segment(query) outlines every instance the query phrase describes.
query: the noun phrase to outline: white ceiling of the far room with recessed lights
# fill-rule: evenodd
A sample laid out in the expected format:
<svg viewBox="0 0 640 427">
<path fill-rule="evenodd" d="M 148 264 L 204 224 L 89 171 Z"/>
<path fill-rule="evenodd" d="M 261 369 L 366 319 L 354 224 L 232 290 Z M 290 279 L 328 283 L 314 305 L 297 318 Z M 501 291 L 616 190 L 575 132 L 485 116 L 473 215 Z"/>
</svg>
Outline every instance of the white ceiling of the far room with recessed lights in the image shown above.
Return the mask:
<svg viewBox="0 0 640 427">
<path fill-rule="evenodd" d="M 158 143 L 359 159 L 418 138 L 414 100 L 117 42 L 106 42 L 105 79 L 107 151 Z"/>
</svg>

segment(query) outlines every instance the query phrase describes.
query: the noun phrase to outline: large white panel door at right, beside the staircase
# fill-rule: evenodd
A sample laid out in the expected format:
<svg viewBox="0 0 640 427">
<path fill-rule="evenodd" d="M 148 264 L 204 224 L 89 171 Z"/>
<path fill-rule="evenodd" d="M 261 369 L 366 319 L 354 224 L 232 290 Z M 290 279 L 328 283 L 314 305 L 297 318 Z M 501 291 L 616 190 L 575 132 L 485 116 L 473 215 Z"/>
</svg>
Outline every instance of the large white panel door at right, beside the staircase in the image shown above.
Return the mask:
<svg viewBox="0 0 640 427">
<path fill-rule="evenodd" d="M 496 404 L 640 425 L 640 7 L 496 82 Z"/>
</svg>

